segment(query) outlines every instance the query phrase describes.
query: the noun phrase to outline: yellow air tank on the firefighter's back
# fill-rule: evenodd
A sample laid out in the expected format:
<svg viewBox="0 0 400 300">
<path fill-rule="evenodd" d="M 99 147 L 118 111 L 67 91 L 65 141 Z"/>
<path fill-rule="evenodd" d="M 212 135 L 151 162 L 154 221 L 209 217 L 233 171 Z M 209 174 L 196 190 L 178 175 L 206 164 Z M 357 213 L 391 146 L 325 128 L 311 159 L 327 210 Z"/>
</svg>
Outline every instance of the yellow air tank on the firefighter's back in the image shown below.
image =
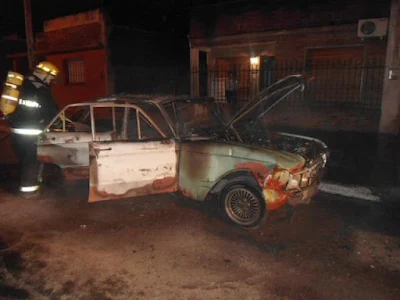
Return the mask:
<svg viewBox="0 0 400 300">
<path fill-rule="evenodd" d="M 3 85 L 3 92 L 0 100 L 0 110 L 3 115 L 12 114 L 18 106 L 20 87 L 24 76 L 16 72 L 8 72 Z"/>
</svg>

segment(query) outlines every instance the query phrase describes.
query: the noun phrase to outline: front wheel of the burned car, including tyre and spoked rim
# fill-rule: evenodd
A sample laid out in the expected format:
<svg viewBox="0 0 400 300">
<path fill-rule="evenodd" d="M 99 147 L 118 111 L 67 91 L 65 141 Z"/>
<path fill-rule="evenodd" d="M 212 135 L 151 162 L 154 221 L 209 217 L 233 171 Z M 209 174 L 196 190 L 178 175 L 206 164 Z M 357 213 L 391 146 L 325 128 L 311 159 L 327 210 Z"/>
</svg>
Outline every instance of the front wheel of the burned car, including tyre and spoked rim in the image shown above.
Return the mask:
<svg viewBox="0 0 400 300">
<path fill-rule="evenodd" d="M 261 193 L 245 184 L 226 186 L 219 198 L 222 216 L 245 229 L 256 229 L 264 225 L 266 210 Z"/>
</svg>

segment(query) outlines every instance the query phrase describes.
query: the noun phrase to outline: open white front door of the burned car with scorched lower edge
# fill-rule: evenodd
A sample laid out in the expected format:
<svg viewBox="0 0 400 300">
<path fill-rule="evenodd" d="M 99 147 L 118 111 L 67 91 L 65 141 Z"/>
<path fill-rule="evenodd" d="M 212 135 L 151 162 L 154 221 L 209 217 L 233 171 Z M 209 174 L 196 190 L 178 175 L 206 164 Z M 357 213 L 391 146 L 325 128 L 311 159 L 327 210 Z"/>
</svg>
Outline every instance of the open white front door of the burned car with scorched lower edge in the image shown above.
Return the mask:
<svg viewBox="0 0 400 300">
<path fill-rule="evenodd" d="M 148 116 L 131 108 L 126 140 L 89 144 L 89 202 L 175 192 L 177 143 Z M 127 117 L 126 122 L 129 121 Z M 129 123 L 129 122 L 128 122 Z M 148 127 L 148 128 L 146 128 Z"/>
</svg>

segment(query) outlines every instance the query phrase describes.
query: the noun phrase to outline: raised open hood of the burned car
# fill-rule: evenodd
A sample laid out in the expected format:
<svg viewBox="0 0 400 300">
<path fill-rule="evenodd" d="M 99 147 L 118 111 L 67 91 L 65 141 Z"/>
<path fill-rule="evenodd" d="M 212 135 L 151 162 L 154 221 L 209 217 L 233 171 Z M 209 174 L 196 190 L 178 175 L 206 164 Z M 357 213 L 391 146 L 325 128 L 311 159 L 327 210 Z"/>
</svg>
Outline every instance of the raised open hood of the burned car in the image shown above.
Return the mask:
<svg viewBox="0 0 400 300">
<path fill-rule="evenodd" d="M 301 75 L 290 75 L 265 88 L 241 108 L 227 123 L 226 127 L 235 128 L 246 120 L 259 121 L 275 105 L 296 90 L 304 90 Z"/>
</svg>

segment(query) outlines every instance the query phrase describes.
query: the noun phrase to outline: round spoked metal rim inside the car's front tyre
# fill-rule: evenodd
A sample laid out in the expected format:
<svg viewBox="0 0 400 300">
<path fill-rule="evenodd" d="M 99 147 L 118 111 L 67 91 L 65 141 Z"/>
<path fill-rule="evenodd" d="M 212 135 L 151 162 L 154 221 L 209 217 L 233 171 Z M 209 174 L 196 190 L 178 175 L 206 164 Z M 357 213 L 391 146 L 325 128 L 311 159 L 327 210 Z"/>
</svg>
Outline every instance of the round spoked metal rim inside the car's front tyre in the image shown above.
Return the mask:
<svg viewBox="0 0 400 300">
<path fill-rule="evenodd" d="M 261 209 L 258 197 L 248 189 L 232 189 L 225 197 L 225 211 L 239 225 L 250 225 L 257 221 Z"/>
</svg>

